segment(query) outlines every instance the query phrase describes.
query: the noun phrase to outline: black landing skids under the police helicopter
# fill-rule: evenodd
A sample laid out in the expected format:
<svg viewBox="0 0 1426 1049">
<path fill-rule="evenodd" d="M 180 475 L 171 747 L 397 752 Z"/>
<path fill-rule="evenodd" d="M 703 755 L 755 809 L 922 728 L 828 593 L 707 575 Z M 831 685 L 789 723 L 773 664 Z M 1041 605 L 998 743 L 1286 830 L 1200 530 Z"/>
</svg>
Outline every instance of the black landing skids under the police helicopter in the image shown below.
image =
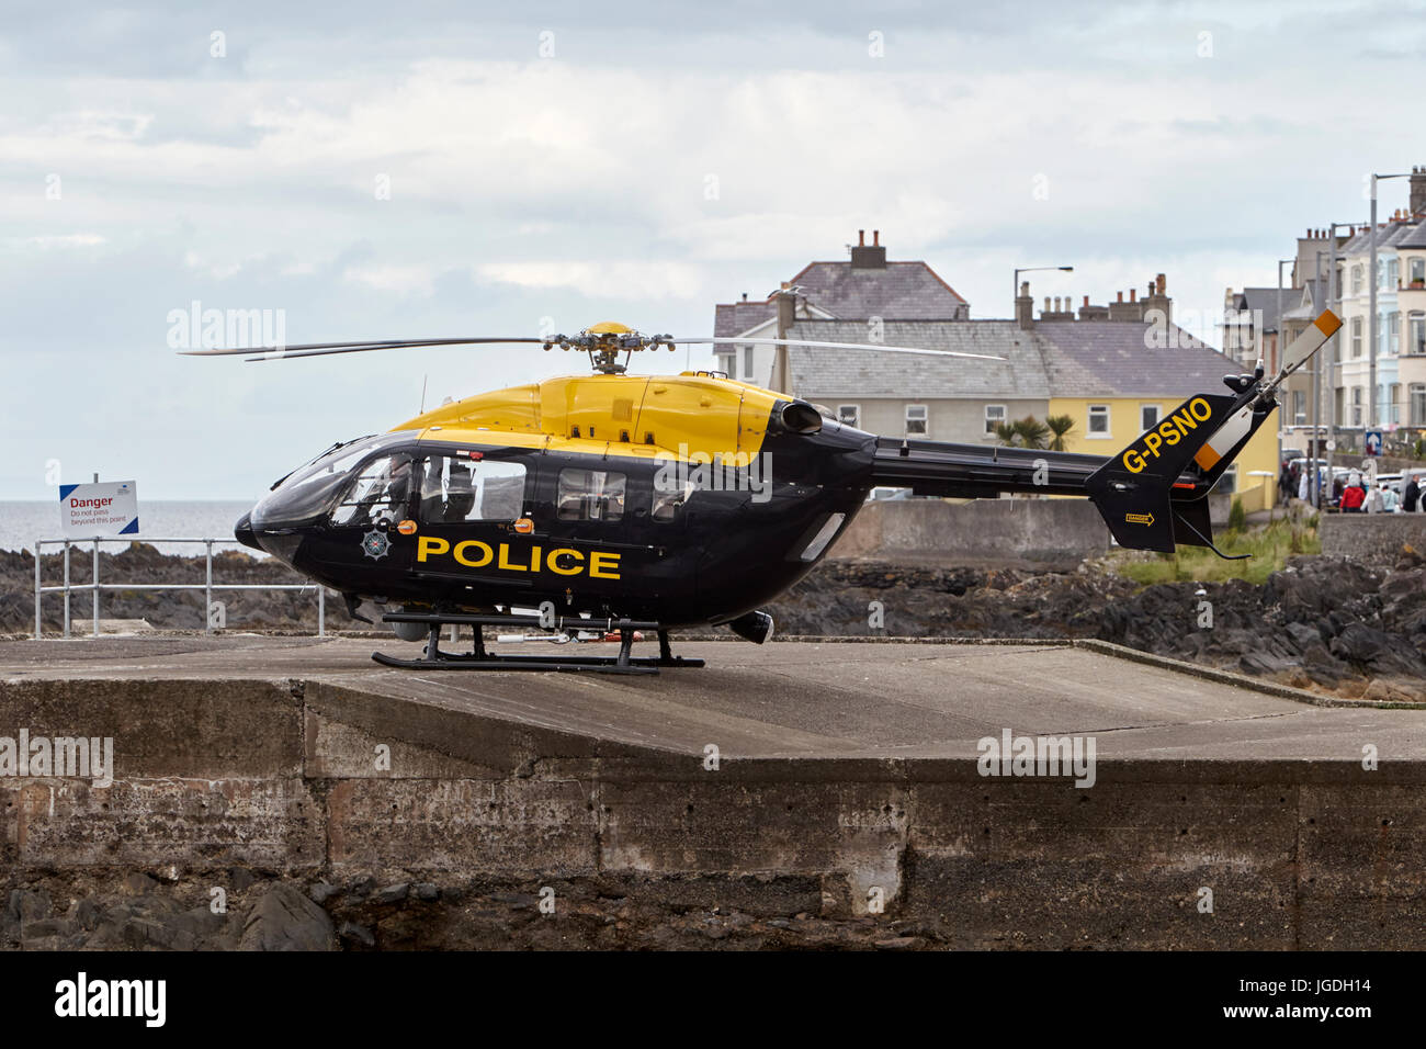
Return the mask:
<svg viewBox="0 0 1426 1049">
<path fill-rule="evenodd" d="M 384 667 L 398 667 L 414 671 L 593 671 L 595 674 L 657 674 L 662 667 L 702 667 L 702 659 L 684 659 L 673 655 L 669 648 L 669 631 L 656 622 L 635 622 L 632 619 L 565 619 L 560 617 L 556 629 L 603 628 L 619 631 L 619 655 L 573 655 L 549 658 L 543 655 L 493 655 L 485 651 L 482 627 L 545 627 L 538 615 L 461 615 L 455 612 L 386 612 L 384 622 L 419 622 L 431 628 L 425 655 L 419 659 L 399 659 L 385 652 L 372 652 L 371 658 Z M 471 627 L 475 644 L 469 654 L 441 651 L 441 629 L 446 625 Z M 635 631 L 657 631 L 659 655 L 633 657 Z"/>
</svg>

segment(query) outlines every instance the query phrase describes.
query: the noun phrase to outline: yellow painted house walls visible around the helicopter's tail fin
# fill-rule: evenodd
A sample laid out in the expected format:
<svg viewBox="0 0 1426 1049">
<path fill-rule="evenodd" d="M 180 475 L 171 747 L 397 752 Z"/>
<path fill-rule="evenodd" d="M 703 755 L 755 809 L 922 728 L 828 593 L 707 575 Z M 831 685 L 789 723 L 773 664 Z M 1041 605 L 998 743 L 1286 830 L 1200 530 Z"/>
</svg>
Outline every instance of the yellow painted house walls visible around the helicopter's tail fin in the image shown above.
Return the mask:
<svg viewBox="0 0 1426 1049">
<path fill-rule="evenodd" d="M 1202 392 L 1216 394 L 1219 390 L 1185 390 L 1182 397 L 1051 397 L 1048 414 L 1074 420 L 1074 428 L 1065 437 L 1065 451 L 1114 455 L 1192 394 Z M 1231 484 L 1231 491 L 1242 500 L 1243 511 L 1269 510 L 1278 498 L 1278 420 L 1269 418 L 1258 427 L 1214 491 L 1229 491 Z"/>
</svg>

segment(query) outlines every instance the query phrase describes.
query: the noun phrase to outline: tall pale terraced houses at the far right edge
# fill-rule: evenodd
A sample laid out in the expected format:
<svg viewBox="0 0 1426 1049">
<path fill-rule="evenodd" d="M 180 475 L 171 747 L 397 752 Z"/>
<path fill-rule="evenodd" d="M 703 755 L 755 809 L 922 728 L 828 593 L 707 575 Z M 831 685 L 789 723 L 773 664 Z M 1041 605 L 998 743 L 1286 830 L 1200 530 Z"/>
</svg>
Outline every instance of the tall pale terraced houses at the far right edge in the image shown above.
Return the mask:
<svg viewBox="0 0 1426 1049">
<path fill-rule="evenodd" d="M 1323 350 L 1322 425 L 1348 431 L 1382 428 L 1396 442 L 1426 435 L 1426 167 L 1410 173 L 1405 208 L 1376 228 L 1376 273 L 1370 273 L 1370 225 L 1308 230 L 1298 238 L 1292 277 L 1276 287 L 1228 288 L 1224 348 L 1241 363 L 1258 354 L 1276 363 L 1322 310 L 1342 317 L 1342 330 Z M 1333 241 L 1336 264 L 1333 268 Z M 1370 414 L 1370 300 L 1376 283 L 1376 418 Z M 1286 442 L 1306 448 L 1310 438 L 1312 373 L 1288 384 Z"/>
</svg>

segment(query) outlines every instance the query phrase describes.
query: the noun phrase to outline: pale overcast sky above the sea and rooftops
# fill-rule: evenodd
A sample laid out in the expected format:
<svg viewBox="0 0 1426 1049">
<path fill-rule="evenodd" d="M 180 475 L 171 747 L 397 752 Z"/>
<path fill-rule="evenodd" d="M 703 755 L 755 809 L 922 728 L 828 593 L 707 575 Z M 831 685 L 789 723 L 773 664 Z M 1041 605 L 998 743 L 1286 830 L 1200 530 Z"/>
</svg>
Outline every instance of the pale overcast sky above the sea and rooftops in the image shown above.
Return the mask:
<svg viewBox="0 0 1426 1049">
<path fill-rule="evenodd" d="M 583 361 L 178 357 L 195 300 L 281 310 L 288 343 L 706 335 L 714 303 L 880 228 L 973 318 L 1011 314 L 1017 265 L 1074 265 L 1035 297 L 1098 303 L 1162 271 L 1218 345 L 1228 285 L 1365 220 L 1365 173 L 1426 163 L 1423 60 L 1402 0 L 9 0 L 0 498 L 53 498 L 53 461 L 255 498 L 426 380 L 431 405 Z M 1405 203 L 1383 184 L 1383 216 Z"/>
</svg>

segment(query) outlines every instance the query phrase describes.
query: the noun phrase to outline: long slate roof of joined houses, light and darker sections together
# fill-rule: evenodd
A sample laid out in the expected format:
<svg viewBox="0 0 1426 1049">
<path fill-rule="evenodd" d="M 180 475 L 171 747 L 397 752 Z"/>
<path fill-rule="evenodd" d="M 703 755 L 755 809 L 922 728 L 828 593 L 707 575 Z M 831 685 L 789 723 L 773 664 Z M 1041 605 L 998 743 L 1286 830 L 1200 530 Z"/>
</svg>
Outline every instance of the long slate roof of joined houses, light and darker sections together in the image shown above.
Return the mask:
<svg viewBox="0 0 1426 1049">
<path fill-rule="evenodd" d="M 1276 288 L 1273 290 L 1276 293 Z M 790 347 L 793 388 L 801 397 L 891 400 L 1048 400 L 1050 397 L 1172 397 L 1218 392 L 1236 363 L 1182 328 L 1176 345 L 1147 345 L 1148 324 L 1135 321 L 887 321 L 888 345 L 995 354 L 964 357 Z M 866 343 L 867 325 L 800 321 L 793 337 Z"/>
</svg>

